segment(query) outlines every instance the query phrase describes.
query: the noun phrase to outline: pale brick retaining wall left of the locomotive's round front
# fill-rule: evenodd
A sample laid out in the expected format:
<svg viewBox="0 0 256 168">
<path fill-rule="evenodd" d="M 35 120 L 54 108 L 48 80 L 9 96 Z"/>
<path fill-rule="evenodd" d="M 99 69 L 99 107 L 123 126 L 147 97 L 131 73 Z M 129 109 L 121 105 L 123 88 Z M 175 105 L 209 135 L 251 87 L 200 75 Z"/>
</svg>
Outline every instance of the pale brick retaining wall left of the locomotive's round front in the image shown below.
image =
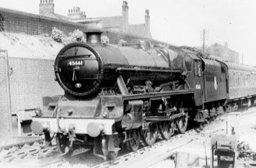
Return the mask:
<svg viewBox="0 0 256 168">
<path fill-rule="evenodd" d="M 64 94 L 54 81 L 54 60 L 39 60 L 9 57 L 9 66 L 13 73 L 10 76 L 12 114 L 28 108 L 43 108 L 42 97 Z M 0 79 L 5 80 L 5 61 L 0 57 Z M 9 115 L 7 106 L 6 85 L 0 87 L 0 135 L 8 129 L 6 118 Z M 16 127 L 16 121 L 12 125 Z M 16 133 L 16 128 L 14 128 Z"/>
</svg>

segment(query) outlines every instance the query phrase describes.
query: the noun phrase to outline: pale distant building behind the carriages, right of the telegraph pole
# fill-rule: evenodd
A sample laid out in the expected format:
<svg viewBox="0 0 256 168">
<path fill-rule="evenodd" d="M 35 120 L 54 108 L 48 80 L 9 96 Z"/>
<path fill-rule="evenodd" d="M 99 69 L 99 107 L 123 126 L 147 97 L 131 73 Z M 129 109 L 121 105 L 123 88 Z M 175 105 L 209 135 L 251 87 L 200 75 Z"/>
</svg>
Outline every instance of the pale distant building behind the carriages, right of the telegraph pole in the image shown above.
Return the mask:
<svg viewBox="0 0 256 168">
<path fill-rule="evenodd" d="M 240 63 L 239 53 L 234 50 L 230 50 L 228 44 L 221 45 L 219 43 L 214 43 L 207 48 L 207 52 L 213 57 L 219 57 L 221 60 L 230 63 Z"/>
</svg>

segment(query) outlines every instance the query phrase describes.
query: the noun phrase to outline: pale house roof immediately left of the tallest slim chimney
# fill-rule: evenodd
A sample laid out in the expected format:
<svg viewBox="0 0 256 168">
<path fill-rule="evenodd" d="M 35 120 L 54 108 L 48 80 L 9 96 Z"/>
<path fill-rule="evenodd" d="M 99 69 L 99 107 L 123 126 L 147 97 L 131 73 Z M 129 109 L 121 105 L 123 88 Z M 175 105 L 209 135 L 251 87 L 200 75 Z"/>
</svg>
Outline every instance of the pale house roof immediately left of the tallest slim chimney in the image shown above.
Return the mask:
<svg viewBox="0 0 256 168">
<path fill-rule="evenodd" d="M 122 22 L 122 16 L 110 16 L 95 18 L 101 20 L 103 28 L 119 28 Z"/>
</svg>

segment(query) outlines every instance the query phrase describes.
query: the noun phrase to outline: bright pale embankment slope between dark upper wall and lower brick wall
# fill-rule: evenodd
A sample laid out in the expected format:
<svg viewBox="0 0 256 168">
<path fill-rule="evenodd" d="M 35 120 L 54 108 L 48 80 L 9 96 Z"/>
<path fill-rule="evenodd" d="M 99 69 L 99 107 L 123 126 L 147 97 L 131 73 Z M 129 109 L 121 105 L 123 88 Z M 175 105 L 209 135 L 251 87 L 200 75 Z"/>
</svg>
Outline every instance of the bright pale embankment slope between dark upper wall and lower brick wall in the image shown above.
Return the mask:
<svg viewBox="0 0 256 168">
<path fill-rule="evenodd" d="M 62 43 L 43 35 L 0 33 L 0 50 L 8 50 L 9 57 L 55 59 L 62 47 Z"/>
</svg>

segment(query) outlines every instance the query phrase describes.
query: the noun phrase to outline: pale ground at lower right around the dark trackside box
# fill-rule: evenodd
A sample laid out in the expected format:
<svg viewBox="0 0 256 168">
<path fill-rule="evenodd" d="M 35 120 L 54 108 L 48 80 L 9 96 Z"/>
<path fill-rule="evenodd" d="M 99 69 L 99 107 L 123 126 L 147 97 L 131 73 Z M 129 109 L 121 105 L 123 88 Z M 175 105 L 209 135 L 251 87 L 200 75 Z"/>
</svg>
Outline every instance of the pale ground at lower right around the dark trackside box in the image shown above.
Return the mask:
<svg viewBox="0 0 256 168">
<path fill-rule="evenodd" d="M 216 134 L 226 135 L 226 122 L 230 122 L 230 125 L 235 127 L 235 133 L 237 135 L 238 143 L 244 142 L 250 149 L 256 152 L 256 108 L 250 108 L 244 111 L 232 112 L 226 115 L 222 115 L 214 122 L 205 125 L 205 128 L 200 134 L 191 135 L 191 137 L 185 136 L 182 140 L 190 139 L 192 136 L 198 137 L 197 140 L 189 143 L 186 146 L 182 146 L 176 149 L 174 153 L 189 153 L 190 156 L 199 156 L 199 165 L 195 167 L 205 167 L 207 157 L 208 166 L 210 164 L 211 156 L 211 137 Z M 214 133 L 211 133 L 214 132 Z M 177 140 L 178 141 L 178 140 Z M 206 153 L 206 154 L 205 154 Z M 206 155 L 206 156 L 205 156 Z M 250 163 L 253 160 L 238 158 L 236 167 L 252 167 Z M 153 167 L 175 167 L 174 159 L 165 159 L 152 166 Z"/>
</svg>

